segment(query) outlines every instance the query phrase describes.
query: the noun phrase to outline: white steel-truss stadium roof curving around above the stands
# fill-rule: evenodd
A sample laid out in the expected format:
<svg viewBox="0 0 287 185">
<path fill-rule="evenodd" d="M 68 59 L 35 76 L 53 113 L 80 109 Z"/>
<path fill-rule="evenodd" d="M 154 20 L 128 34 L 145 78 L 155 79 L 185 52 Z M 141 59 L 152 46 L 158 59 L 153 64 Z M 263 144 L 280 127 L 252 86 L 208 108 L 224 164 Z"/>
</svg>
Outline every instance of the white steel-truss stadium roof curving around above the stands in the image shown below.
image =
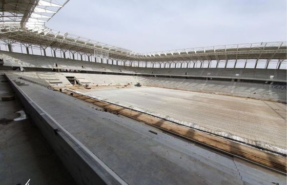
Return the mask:
<svg viewBox="0 0 287 185">
<path fill-rule="evenodd" d="M 261 42 L 137 53 L 45 26 L 68 0 L 2 0 L 0 40 L 40 45 L 119 61 L 185 62 L 220 60 L 286 60 L 287 42 Z"/>
</svg>

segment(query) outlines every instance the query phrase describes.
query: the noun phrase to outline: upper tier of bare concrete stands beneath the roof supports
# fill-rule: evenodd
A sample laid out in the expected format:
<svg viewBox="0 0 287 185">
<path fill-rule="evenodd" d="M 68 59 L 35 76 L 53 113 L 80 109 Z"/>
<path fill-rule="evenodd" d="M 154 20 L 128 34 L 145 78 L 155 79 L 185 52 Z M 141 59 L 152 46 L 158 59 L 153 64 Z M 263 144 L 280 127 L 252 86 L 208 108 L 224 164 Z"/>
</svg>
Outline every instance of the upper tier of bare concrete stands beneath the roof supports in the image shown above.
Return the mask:
<svg viewBox="0 0 287 185">
<path fill-rule="evenodd" d="M 145 68 L 84 62 L 39 55 L 0 51 L 5 66 L 49 68 L 72 71 L 97 71 L 128 74 L 153 74 L 165 76 L 193 76 L 210 78 L 236 78 L 286 82 L 286 70 L 241 68 Z"/>
</svg>

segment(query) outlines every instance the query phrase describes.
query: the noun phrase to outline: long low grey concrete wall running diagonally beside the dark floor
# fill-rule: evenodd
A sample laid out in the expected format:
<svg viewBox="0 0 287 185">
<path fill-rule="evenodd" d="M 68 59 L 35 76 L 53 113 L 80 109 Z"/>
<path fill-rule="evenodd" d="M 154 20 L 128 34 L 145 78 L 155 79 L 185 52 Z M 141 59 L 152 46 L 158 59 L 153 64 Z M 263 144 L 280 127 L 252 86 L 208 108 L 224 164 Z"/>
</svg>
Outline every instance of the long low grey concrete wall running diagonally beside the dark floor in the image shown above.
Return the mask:
<svg viewBox="0 0 287 185">
<path fill-rule="evenodd" d="M 8 80 L 27 114 L 78 184 L 125 184 L 108 166 L 34 103 L 9 77 Z"/>
</svg>

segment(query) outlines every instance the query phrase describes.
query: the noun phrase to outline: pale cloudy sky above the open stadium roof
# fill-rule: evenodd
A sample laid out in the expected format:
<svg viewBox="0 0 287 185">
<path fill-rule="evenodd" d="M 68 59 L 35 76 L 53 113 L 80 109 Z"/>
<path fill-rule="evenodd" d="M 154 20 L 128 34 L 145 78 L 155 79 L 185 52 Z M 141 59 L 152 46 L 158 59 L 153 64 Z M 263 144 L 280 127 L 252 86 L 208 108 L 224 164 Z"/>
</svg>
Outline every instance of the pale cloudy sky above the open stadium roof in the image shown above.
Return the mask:
<svg viewBox="0 0 287 185">
<path fill-rule="evenodd" d="M 46 25 L 135 52 L 286 41 L 287 0 L 70 0 Z"/>
</svg>

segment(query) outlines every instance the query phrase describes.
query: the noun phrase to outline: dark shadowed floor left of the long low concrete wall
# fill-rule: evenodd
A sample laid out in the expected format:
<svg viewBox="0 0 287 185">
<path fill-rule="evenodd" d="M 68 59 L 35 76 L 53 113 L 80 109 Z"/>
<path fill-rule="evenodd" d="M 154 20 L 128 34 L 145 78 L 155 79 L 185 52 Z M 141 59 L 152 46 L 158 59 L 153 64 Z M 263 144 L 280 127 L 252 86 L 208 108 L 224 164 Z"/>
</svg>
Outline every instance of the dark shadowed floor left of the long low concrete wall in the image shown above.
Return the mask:
<svg viewBox="0 0 287 185">
<path fill-rule="evenodd" d="M 2 102 L 14 95 L 0 76 L 0 185 L 74 185 L 72 176 L 30 119 L 12 121 L 20 115 L 19 99 Z M 9 122 L 12 121 L 12 122 Z"/>
</svg>

